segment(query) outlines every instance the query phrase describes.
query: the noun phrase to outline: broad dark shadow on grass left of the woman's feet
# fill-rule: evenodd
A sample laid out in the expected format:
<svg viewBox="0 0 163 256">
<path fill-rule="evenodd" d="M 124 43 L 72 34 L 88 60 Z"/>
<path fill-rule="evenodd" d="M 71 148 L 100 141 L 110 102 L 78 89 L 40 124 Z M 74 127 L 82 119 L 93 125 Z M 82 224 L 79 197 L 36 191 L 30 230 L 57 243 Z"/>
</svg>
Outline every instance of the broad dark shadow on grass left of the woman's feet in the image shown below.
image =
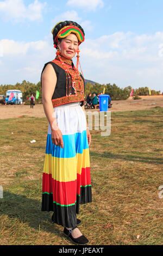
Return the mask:
<svg viewBox="0 0 163 256">
<path fill-rule="evenodd" d="M 43 231 L 60 236 L 59 225 L 51 221 L 52 213 L 52 211 L 42 212 L 39 200 L 21 194 L 3 191 L 3 199 L 0 199 L 0 216 L 8 215 L 13 221 L 16 218 L 20 223 L 27 223 L 37 231 L 41 228 Z"/>
</svg>

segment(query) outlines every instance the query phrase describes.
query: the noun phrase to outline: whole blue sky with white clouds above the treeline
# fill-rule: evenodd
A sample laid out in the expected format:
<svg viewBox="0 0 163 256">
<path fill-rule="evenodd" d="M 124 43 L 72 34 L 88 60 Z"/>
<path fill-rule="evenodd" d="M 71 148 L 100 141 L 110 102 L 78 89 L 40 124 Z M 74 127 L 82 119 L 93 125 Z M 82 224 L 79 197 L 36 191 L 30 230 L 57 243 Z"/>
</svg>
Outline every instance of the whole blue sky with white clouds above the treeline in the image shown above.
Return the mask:
<svg viewBox="0 0 163 256">
<path fill-rule="evenodd" d="M 43 65 L 55 58 L 52 28 L 73 20 L 85 31 L 86 79 L 162 92 L 162 9 L 161 0 L 0 1 L 0 84 L 40 81 Z"/>
</svg>

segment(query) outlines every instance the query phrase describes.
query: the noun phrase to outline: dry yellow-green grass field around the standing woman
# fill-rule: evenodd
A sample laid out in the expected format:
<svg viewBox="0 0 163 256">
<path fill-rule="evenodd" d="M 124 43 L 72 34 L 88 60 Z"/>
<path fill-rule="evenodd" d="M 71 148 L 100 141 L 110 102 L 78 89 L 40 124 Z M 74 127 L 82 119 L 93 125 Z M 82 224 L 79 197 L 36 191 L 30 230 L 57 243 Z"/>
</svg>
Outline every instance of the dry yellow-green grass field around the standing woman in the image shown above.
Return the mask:
<svg viewBox="0 0 163 256">
<path fill-rule="evenodd" d="M 89 245 L 163 243 L 162 116 L 160 107 L 112 112 L 110 136 L 91 131 L 92 203 L 80 205 L 77 216 Z M 52 212 L 41 212 L 47 119 L 0 124 L 1 245 L 72 245 L 51 223 Z"/>
</svg>

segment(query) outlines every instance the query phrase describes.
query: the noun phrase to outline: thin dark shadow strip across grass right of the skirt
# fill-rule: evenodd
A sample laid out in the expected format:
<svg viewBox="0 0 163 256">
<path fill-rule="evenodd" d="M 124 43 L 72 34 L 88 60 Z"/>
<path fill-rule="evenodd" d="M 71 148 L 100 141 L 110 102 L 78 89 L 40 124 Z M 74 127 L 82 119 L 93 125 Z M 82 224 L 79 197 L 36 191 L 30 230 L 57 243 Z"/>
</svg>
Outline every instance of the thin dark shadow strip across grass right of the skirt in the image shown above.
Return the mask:
<svg viewBox="0 0 163 256">
<path fill-rule="evenodd" d="M 154 163 L 154 164 L 163 164 L 163 161 L 161 160 L 161 158 L 152 158 L 152 157 L 145 157 L 145 156 L 141 156 L 141 155 L 137 155 L 137 156 L 133 156 L 130 154 L 126 154 L 126 155 L 116 155 L 116 154 L 112 154 L 110 152 L 104 152 L 104 153 L 96 153 L 96 152 L 90 152 L 90 157 L 102 157 L 102 158 L 106 158 L 106 159 L 122 159 L 122 160 L 126 160 L 126 161 L 135 161 L 135 162 L 143 162 L 143 163 Z"/>
</svg>

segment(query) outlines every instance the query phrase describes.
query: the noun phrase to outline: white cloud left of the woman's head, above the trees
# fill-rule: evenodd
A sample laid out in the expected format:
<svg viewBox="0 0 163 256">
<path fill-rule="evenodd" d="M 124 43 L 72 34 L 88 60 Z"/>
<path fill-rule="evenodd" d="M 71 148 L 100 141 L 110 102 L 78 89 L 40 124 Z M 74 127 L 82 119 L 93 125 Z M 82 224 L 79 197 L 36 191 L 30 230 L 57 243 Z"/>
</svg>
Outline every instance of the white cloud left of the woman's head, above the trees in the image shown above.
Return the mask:
<svg viewBox="0 0 163 256">
<path fill-rule="evenodd" d="M 43 65 L 55 58 L 53 46 L 45 40 L 24 42 L 3 39 L 0 44 L 3 46 L 3 84 L 15 84 L 23 80 L 39 82 Z"/>
</svg>

